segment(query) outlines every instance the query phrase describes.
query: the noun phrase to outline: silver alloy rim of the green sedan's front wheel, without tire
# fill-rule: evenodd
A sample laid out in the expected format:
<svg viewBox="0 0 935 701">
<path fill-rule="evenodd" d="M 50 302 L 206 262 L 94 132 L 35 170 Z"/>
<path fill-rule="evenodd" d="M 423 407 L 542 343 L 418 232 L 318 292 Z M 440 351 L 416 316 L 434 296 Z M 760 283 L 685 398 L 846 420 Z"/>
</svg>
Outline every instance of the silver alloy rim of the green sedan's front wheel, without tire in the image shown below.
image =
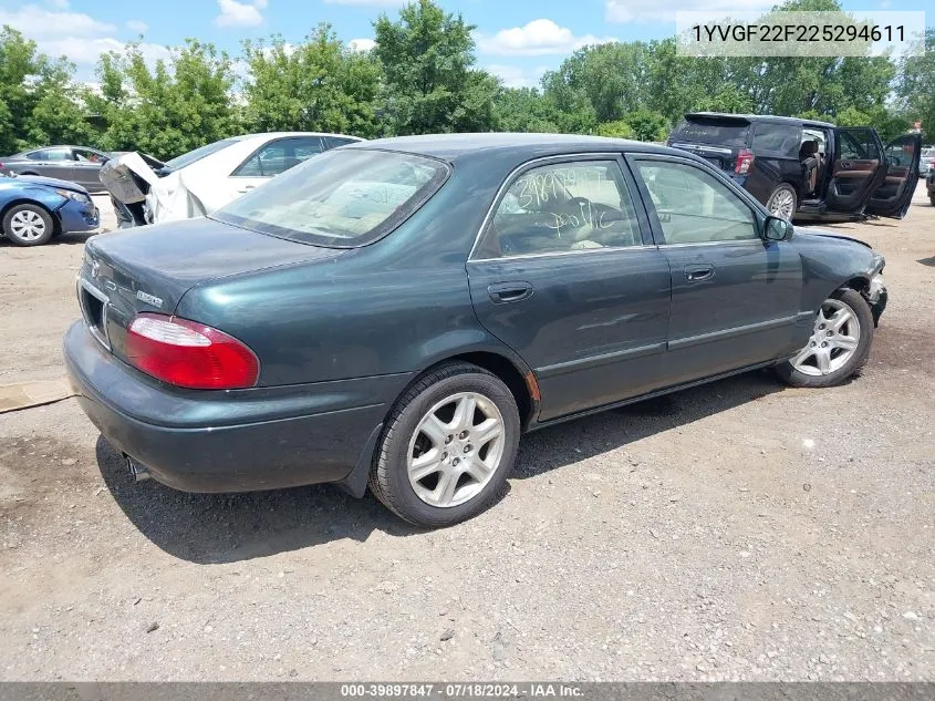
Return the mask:
<svg viewBox="0 0 935 701">
<path fill-rule="evenodd" d="M 809 342 L 790 362 L 802 374 L 830 374 L 853 357 L 860 338 L 861 327 L 854 310 L 838 299 L 829 299 L 818 312 Z"/>
</svg>

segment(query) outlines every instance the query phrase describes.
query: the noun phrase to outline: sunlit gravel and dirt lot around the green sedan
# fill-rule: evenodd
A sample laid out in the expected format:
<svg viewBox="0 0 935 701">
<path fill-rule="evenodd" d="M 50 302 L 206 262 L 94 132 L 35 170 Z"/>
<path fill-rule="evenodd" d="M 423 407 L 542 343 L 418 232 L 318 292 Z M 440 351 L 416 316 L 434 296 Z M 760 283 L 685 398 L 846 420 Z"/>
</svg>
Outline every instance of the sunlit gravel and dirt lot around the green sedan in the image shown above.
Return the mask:
<svg viewBox="0 0 935 701">
<path fill-rule="evenodd" d="M 135 485 L 74 400 L 0 415 L 0 679 L 935 680 L 935 207 L 863 377 L 751 373 L 524 440 L 475 520 Z M 0 383 L 63 375 L 84 237 L 0 244 Z M 258 446 L 262 450 L 262 446 Z"/>
</svg>

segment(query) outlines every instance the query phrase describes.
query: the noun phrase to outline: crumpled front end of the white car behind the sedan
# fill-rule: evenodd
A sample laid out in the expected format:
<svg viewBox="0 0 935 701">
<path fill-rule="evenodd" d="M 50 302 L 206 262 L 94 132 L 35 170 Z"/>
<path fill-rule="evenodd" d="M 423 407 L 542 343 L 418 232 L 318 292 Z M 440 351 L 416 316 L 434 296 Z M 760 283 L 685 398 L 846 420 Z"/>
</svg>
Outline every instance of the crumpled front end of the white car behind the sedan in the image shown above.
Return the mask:
<svg viewBox="0 0 935 701">
<path fill-rule="evenodd" d="M 126 153 L 105 163 L 100 177 L 114 200 L 126 209 L 128 216 L 121 217 L 126 226 L 190 219 L 208 214 L 186 182 L 185 168 L 169 171 L 166 164 L 152 156 Z"/>
</svg>

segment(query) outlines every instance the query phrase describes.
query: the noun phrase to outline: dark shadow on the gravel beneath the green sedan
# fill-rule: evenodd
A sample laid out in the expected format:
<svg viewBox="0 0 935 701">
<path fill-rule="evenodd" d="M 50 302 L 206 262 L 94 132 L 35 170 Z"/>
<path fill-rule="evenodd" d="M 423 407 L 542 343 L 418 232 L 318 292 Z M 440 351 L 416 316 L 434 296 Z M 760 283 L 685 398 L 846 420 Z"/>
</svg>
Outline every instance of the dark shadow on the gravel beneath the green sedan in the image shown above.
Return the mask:
<svg viewBox="0 0 935 701">
<path fill-rule="evenodd" d="M 771 373 L 747 373 L 537 431 L 523 437 L 512 477 L 537 477 L 756 401 L 782 386 Z M 104 481 L 127 518 L 159 548 L 185 560 L 232 563 L 341 538 L 363 542 L 374 530 L 392 536 L 419 532 L 370 494 L 355 499 L 329 485 L 186 494 L 152 481 L 134 483 L 120 454 L 103 437 L 96 453 Z"/>
</svg>

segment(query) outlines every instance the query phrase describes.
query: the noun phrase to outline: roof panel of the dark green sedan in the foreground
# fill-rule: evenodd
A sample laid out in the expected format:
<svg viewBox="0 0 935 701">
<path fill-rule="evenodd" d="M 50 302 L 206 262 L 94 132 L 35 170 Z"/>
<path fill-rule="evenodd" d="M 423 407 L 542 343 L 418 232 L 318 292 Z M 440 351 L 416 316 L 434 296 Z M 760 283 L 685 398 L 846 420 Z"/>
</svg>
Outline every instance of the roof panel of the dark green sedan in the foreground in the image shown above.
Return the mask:
<svg viewBox="0 0 935 701">
<path fill-rule="evenodd" d="M 685 153 L 645 144 L 625 138 L 604 136 L 580 136 L 575 134 L 426 134 L 423 136 L 395 136 L 349 144 L 343 148 L 383 148 L 416 155 L 429 156 L 441 161 L 456 162 L 480 155 L 509 154 L 512 161 L 524 162 L 530 158 L 557 156 L 574 153 L 594 152 L 643 152 L 671 153 L 684 156 Z"/>
</svg>

